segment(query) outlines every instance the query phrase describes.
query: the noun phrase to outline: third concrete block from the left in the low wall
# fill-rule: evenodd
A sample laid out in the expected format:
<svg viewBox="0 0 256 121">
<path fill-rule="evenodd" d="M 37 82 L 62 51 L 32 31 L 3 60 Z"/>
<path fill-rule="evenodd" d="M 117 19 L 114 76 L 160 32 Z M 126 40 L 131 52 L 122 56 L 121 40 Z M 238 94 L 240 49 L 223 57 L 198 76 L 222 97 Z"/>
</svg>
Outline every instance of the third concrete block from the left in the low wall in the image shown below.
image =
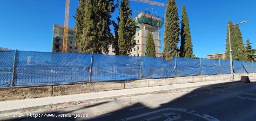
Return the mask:
<svg viewBox="0 0 256 121">
<path fill-rule="evenodd" d="M 124 89 L 124 81 L 101 81 L 93 84 L 93 91 Z"/>
</svg>

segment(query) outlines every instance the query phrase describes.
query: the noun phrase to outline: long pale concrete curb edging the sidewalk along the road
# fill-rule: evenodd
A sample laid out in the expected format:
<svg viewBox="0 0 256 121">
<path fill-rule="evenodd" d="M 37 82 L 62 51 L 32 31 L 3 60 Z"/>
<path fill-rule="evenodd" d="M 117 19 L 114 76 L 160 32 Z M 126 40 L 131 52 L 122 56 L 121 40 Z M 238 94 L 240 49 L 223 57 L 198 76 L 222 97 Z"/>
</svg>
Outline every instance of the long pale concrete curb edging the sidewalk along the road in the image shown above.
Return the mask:
<svg viewBox="0 0 256 121">
<path fill-rule="evenodd" d="M 102 100 L 109 100 L 109 99 L 113 99 L 113 98 L 139 96 L 139 95 L 145 95 L 145 94 L 169 93 L 169 92 L 172 92 L 172 91 L 177 91 L 177 90 L 182 90 L 182 89 L 189 89 L 189 88 L 195 88 L 195 87 L 208 87 L 208 86 L 212 86 L 212 85 L 223 85 L 223 84 L 230 84 L 230 83 L 236 83 L 236 82 L 240 82 L 240 81 L 229 81 L 229 82 L 216 83 L 216 84 L 206 84 L 206 85 L 201 85 L 201 86 L 191 86 L 191 87 L 182 87 L 182 88 L 174 88 L 174 89 L 165 89 L 165 90 L 159 90 L 159 91 L 149 91 L 149 92 L 137 93 L 137 94 L 124 94 L 124 95 L 119 95 L 119 96 L 110 96 L 110 97 L 95 98 L 95 99 L 81 100 L 81 101 L 102 101 Z M 4 111 L 0 111 L 0 114 L 6 114 L 6 113 L 18 112 L 18 111 L 24 111 L 24 110 L 40 109 L 40 108 L 45 108 L 47 106 L 59 106 L 59 105 L 65 104 L 65 103 L 73 103 L 73 102 L 77 102 L 77 101 L 68 101 L 68 102 L 48 104 L 48 105 L 28 107 L 28 108 L 18 108 L 18 109 L 4 110 Z"/>
</svg>

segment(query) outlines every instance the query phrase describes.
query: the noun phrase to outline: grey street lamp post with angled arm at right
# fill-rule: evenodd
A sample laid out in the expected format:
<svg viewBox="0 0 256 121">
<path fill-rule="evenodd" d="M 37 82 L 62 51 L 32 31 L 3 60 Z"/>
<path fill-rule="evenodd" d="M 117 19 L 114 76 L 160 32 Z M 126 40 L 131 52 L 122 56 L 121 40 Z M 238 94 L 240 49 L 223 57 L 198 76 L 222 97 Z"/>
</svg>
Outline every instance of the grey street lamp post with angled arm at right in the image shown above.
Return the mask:
<svg viewBox="0 0 256 121">
<path fill-rule="evenodd" d="M 232 49 L 231 49 L 231 39 L 230 39 L 230 27 L 238 26 L 238 25 L 246 23 L 246 22 L 249 22 L 249 20 L 242 21 L 242 22 L 232 25 L 232 26 L 229 25 L 229 57 L 230 57 L 230 72 L 231 72 L 230 73 L 231 74 L 230 81 L 234 81 L 234 70 L 233 70 Z"/>
</svg>

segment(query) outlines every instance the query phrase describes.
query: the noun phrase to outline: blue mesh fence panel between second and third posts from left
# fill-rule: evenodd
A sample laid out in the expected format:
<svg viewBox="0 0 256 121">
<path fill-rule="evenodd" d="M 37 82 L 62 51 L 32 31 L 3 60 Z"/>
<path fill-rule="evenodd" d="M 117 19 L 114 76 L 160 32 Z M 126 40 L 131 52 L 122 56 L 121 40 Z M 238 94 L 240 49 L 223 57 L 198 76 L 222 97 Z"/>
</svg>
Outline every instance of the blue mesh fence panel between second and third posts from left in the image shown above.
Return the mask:
<svg viewBox="0 0 256 121">
<path fill-rule="evenodd" d="M 93 54 L 92 81 L 140 79 L 141 57 Z"/>
</svg>

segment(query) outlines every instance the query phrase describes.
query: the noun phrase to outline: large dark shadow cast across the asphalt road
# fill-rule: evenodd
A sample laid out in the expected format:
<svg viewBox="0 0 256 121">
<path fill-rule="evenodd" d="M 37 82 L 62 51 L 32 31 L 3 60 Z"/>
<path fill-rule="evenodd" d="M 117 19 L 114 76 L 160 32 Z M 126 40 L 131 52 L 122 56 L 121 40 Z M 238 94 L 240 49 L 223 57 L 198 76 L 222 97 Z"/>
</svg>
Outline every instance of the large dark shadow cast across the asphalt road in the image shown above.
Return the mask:
<svg viewBox="0 0 256 121">
<path fill-rule="evenodd" d="M 253 93 L 254 92 L 254 93 Z M 254 95 L 255 94 L 255 95 Z M 154 94 L 149 95 L 154 96 Z M 72 114 L 89 107 L 107 102 L 80 107 L 71 111 L 47 111 L 47 114 Z M 22 117 L 15 121 L 241 121 L 256 119 L 256 82 L 229 82 L 199 87 L 188 93 L 170 99 L 156 108 L 150 108 L 141 102 L 98 115 L 96 117 Z M 252 112 L 250 112 L 252 111 Z M 42 114 L 41 114 L 42 115 Z"/>
</svg>

